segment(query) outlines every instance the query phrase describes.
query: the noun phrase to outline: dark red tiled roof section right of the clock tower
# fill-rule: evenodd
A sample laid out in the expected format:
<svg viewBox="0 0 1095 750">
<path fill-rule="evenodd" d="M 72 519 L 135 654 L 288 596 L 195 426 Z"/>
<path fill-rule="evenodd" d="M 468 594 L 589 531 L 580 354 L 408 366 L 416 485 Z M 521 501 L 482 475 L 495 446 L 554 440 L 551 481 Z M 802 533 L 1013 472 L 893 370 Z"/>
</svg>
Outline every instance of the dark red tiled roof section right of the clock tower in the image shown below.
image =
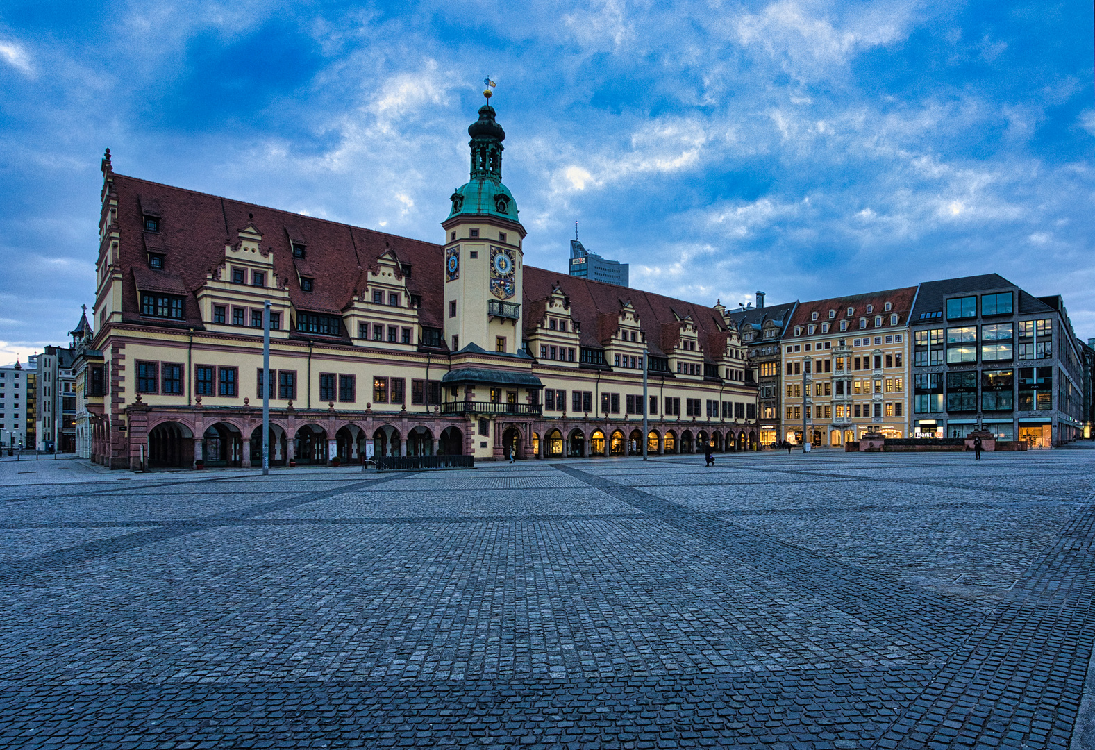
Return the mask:
<svg viewBox="0 0 1095 750">
<path fill-rule="evenodd" d="M 621 299 L 631 300 L 638 315 L 639 330 L 646 334 L 646 342 L 650 354 L 655 357 L 668 356 L 667 349 L 671 342 L 677 339 L 677 331 L 680 321 L 688 315 L 696 324 L 700 332 L 700 341 L 705 344 L 713 334 L 723 331 L 721 315 L 714 308 L 708 308 L 684 300 L 664 297 L 649 291 L 635 288 L 622 288 L 614 284 L 593 281 L 577 276 L 567 276 L 554 270 L 544 270 L 533 266 L 525 266 L 525 300 L 527 310 L 532 304 L 546 299 L 552 291 L 552 287 L 558 285 L 570 300 L 570 314 L 581 324 L 580 343 L 583 346 L 601 348 L 604 344 L 599 341 L 601 335 L 598 331 L 600 315 L 614 316 L 621 309 Z M 541 304 L 539 310 L 543 310 Z M 676 313 L 676 314 L 675 314 Z M 542 316 L 542 313 L 541 313 Z M 525 330 L 531 334 L 540 323 L 539 318 L 532 315 L 525 316 Z M 671 333 L 664 333 L 664 327 L 668 326 Z M 666 336 L 664 338 L 664 335 Z M 665 342 L 665 343 L 664 343 Z M 724 339 L 725 346 L 725 339 Z M 705 351 L 710 356 L 711 350 Z M 722 350 L 715 353 L 715 358 L 723 356 Z"/>
</svg>

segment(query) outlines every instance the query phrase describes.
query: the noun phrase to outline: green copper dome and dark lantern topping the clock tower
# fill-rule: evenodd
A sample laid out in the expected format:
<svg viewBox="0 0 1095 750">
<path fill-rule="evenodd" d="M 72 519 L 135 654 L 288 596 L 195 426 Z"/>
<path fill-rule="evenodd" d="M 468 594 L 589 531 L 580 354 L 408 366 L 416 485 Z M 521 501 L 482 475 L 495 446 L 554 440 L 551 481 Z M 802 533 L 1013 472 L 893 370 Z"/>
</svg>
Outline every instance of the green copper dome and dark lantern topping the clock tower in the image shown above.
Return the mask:
<svg viewBox="0 0 1095 750">
<path fill-rule="evenodd" d="M 456 216 L 493 216 L 516 222 L 517 201 L 509 188 L 502 184 L 502 141 L 506 131 L 495 122 L 494 107 L 484 104 L 480 107 L 480 118 L 468 128 L 472 139 L 471 180 L 461 185 L 449 197 L 452 210 L 449 219 Z"/>
</svg>

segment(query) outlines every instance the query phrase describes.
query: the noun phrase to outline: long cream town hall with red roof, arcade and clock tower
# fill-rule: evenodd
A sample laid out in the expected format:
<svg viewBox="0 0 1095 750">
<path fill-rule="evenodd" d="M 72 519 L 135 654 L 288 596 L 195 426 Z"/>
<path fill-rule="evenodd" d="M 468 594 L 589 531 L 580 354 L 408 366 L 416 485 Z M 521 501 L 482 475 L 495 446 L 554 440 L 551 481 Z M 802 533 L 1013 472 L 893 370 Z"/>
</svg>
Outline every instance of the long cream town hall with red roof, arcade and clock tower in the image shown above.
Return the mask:
<svg viewBox="0 0 1095 750">
<path fill-rule="evenodd" d="M 494 108 L 469 135 L 440 244 L 124 176 L 107 151 L 93 325 L 73 332 L 78 450 L 250 466 L 264 389 L 275 465 L 357 461 L 368 441 L 479 459 L 756 447 L 727 311 L 525 266 Z"/>
</svg>

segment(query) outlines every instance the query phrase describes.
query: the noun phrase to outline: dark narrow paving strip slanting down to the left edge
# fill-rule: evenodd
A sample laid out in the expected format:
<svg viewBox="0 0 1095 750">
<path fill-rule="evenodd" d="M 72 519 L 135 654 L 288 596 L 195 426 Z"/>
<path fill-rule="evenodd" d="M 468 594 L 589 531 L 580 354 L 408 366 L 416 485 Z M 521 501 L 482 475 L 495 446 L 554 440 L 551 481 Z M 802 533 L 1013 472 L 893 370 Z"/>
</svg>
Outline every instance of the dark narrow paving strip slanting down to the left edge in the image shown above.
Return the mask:
<svg viewBox="0 0 1095 750">
<path fill-rule="evenodd" d="M 342 495 L 355 489 L 365 489 L 378 484 L 385 484 L 394 480 L 410 476 L 414 472 L 400 472 L 387 475 L 379 480 L 354 482 L 335 489 L 325 489 L 323 492 L 287 497 L 280 500 L 260 503 L 231 512 L 203 516 L 200 518 L 184 521 L 174 521 L 170 526 L 159 526 L 154 529 L 145 529 L 129 534 L 111 536 L 108 539 L 88 542 L 87 544 L 65 547 L 64 550 L 44 552 L 42 554 L 34 555 L 33 557 L 0 565 L 0 584 L 19 582 L 28 576 L 44 570 L 50 570 L 67 565 L 76 565 L 79 563 L 88 563 L 100 557 L 122 552 L 129 552 L 142 546 L 148 546 L 149 544 L 155 544 L 169 539 L 175 539 L 177 536 L 184 536 L 197 531 L 204 531 L 212 527 L 231 526 L 244 519 L 254 518 L 255 516 L 263 516 L 278 510 L 286 510 L 288 508 L 295 508 L 308 503 L 324 500 L 328 497 Z"/>
</svg>

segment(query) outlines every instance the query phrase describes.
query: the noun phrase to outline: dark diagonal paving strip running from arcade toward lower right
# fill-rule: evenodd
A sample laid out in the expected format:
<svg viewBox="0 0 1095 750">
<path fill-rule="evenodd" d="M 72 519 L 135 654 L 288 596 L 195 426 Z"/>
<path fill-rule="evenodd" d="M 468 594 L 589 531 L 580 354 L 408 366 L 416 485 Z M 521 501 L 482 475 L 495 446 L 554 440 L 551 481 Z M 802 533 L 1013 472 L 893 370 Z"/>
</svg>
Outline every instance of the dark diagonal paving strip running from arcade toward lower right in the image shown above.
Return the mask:
<svg viewBox="0 0 1095 750">
<path fill-rule="evenodd" d="M 723 520 L 717 514 L 692 510 L 677 503 L 589 474 L 552 464 L 570 476 L 638 508 L 665 523 L 703 540 L 791 586 L 832 602 L 872 627 L 897 632 L 942 661 L 950 656 L 984 613 L 907 586 L 899 580 Z"/>
</svg>

